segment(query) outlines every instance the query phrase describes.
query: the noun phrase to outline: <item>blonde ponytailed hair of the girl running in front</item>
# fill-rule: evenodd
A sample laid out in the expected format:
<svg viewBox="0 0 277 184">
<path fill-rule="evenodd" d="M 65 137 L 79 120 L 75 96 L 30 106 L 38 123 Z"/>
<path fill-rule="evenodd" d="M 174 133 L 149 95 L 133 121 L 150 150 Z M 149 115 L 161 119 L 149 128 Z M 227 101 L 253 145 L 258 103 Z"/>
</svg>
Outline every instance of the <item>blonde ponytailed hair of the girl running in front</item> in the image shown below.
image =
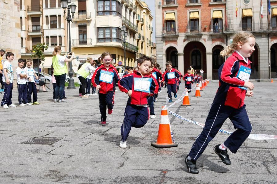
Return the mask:
<svg viewBox="0 0 277 184">
<path fill-rule="evenodd" d="M 224 48 L 224 50 L 220 52 L 220 55 L 224 57 L 232 54 L 237 49 L 239 42 L 242 42 L 244 44 L 248 41 L 248 38 L 250 37 L 255 38 L 255 36 L 248 31 L 239 31 L 235 33 L 232 43 Z"/>
</svg>

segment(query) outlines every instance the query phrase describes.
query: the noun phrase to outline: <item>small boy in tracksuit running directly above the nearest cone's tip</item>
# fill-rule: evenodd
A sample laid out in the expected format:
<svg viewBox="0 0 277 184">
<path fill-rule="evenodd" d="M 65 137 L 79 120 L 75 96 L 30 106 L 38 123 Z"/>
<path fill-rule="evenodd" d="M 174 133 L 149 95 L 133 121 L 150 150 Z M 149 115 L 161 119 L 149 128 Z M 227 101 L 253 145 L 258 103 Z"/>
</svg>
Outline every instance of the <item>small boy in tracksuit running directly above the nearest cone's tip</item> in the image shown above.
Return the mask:
<svg viewBox="0 0 277 184">
<path fill-rule="evenodd" d="M 173 92 L 174 97 L 177 98 L 177 79 L 180 77 L 179 72 L 172 68 L 172 63 L 170 61 L 166 62 L 166 71 L 163 73 L 162 82 L 167 84 L 167 95 L 169 98 L 168 102 L 172 102 L 172 95 Z M 176 79 L 177 78 L 177 79 Z"/>
</svg>

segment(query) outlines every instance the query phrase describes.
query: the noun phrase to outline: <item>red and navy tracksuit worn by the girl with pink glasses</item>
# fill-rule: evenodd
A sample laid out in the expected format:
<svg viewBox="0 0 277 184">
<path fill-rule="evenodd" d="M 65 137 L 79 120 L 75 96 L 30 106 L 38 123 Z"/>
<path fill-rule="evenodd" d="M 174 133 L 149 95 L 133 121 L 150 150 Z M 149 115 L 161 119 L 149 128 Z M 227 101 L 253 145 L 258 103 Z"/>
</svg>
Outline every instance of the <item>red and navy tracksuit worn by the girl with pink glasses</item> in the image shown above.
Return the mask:
<svg viewBox="0 0 277 184">
<path fill-rule="evenodd" d="M 100 78 L 100 72 L 103 71 L 109 71 L 114 73 L 114 78 L 112 80 L 112 83 L 102 82 L 99 80 Z M 91 82 L 93 87 L 96 87 L 97 85 L 100 85 L 101 88 L 98 92 L 99 96 L 99 108 L 100 108 L 100 114 L 101 114 L 101 121 L 106 121 L 106 109 L 113 109 L 114 107 L 114 91 L 115 91 L 115 85 L 116 82 L 118 82 L 120 79 L 116 68 L 113 65 L 110 65 L 108 70 L 105 68 L 105 66 L 102 64 L 100 67 L 96 68 L 94 71 L 94 74 L 91 78 Z"/>
</svg>

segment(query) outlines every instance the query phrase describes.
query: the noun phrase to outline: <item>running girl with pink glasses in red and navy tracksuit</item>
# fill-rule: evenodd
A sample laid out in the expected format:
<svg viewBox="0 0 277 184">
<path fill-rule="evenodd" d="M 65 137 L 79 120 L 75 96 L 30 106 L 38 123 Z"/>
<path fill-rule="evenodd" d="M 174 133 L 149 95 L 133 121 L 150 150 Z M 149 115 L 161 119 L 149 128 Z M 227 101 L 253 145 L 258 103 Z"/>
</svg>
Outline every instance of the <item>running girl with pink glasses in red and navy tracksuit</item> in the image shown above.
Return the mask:
<svg viewBox="0 0 277 184">
<path fill-rule="evenodd" d="M 120 78 L 116 68 L 111 64 L 113 59 L 109 52 L 103 52 L 98 61 L 103 64 L 94 71 L 91 82 L 99 94 L 101 125 L 106 125 L 106 109 L 108 108 L 108 114 L 113 112 L 115 85 Z"/>
</svg>

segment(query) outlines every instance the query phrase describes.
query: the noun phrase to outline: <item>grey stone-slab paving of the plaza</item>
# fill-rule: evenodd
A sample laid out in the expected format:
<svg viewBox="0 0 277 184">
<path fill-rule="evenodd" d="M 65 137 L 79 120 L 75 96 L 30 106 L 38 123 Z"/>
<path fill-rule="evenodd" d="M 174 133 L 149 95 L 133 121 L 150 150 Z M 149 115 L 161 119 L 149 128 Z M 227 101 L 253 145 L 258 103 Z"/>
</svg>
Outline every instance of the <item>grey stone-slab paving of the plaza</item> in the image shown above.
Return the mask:
<svg viewBox="0 0 277 184">
<path fill-rule="evenodd" d="M 254 97 L 246 109 L 252 133 L 277 135 L 277 83 L 254 82 Z M 189 94 L 191 107 L 170 108 L 183 117 L 205 123 L 218 82 L 210 82 L 202 98 Z M 180 86 L 178 96 L 184 90 Z M 14 89 L 13 102 L 17 103 Z M 0 95 L 2 99 L 2 95 Z M 127 94 L 115 94 L 114 112 L 100 125 L 98 96 L 78 97 L 66 90 L 68 103 L 53 103 L 52 92 L 39 92 L 40 105 L 0 109 L 0 183 L 277 183 L 277 140 L 247 139 L 232 164 L 223 164 L 213 147 L 228 136 L 218 133 L 198 159 L 199 174 L 189 174 L 184 158 L 202 128 L 169 115 L 177 148 L 151 147 L 158 134 L 166 90 L 155 103 L 157 118 L 133 128 L 126 149 L 119 148 Z M 174 99 L 175 100 L 175 99 Z M 222 129 L 233 132 L 230 120 Z M 32 138 L 60 138 L 53 144 L 21 144 Z M 46 139 L 48 140 L 48 139 Z"/>
</svg>

